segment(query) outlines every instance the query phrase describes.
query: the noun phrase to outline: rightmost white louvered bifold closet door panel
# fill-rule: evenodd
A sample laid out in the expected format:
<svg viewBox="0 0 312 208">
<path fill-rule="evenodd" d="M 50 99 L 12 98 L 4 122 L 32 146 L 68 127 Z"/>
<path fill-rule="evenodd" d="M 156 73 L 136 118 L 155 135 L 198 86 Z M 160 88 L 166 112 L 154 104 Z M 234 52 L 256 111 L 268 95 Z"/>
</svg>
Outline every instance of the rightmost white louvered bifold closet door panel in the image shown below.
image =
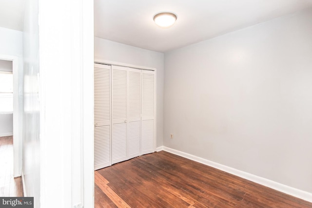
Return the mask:
<svg viewBox="0 0 312 208">
<path fill-rule="evenodd" d="M 142 70 L 141 153 L 155 151 L 155 72 Z"/>
</svg>

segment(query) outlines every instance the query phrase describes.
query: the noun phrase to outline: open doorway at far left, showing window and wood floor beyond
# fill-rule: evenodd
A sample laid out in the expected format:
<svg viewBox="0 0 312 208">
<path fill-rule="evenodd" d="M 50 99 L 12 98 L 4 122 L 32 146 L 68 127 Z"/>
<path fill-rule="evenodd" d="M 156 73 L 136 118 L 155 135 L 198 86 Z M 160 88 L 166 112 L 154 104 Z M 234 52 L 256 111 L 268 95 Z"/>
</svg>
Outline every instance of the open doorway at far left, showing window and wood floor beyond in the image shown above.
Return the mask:
<svg viewBox="0 0 312 208">
<path fill-rule="evenodd" d="M 0 55 L 1 196 L 22 196 L 19 118 L 19 62 Z"/>
</svg>

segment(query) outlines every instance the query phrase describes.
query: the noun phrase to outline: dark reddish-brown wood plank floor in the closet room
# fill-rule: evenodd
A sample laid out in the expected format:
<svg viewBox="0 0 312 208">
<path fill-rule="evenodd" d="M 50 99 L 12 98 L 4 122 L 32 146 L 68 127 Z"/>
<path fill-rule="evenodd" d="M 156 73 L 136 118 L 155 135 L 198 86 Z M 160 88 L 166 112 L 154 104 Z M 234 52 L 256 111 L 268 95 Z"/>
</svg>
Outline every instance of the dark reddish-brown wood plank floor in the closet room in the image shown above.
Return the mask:
<svg viewBox="0 0 312 208">
<path fill-rule="evenodd" d="M 312 203 L 160 151 L 95 171 L 96 208 L 312 208 Z"/>
</svg>

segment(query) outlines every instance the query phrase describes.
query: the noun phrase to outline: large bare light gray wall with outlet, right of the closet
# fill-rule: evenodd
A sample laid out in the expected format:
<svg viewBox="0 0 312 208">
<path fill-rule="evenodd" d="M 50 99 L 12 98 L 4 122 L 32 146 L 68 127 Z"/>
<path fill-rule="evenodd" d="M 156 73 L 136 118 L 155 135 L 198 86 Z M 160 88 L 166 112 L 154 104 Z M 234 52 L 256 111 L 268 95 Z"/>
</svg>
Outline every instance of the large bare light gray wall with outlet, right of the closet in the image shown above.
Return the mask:
<svg viewBox="0 0 312 208">
<path fill-rule="evenodd" d="M 311 22 L 309 10 L 165 53 L 164 146 L 312 192 Z"/>
</svg>

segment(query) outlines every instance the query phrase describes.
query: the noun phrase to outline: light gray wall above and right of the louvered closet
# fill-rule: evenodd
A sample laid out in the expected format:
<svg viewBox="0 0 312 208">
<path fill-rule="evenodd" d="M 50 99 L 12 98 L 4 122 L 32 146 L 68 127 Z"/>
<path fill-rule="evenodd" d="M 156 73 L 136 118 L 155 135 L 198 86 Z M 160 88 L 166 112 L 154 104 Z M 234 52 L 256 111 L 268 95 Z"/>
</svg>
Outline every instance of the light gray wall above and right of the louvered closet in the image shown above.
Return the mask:
<svg viewBox="0 0 312 208">
<path fill-rule="evenodd" d="M 95 37 L 94 55 L 104 60 L 156 68 L 156 146 L 162 146 L 164 54 Z"/>
</svg>

